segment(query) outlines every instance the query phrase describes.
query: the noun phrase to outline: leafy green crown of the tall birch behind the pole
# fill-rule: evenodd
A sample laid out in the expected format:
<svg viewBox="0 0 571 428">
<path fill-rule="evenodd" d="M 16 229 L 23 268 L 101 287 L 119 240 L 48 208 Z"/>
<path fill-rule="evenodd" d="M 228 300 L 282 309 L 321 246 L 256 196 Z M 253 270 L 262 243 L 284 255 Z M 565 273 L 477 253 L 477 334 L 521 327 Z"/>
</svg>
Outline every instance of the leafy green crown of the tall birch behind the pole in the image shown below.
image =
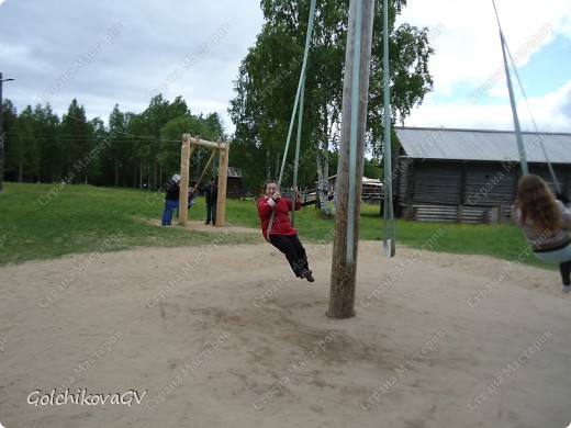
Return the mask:
<svg viewBox="0 0 571 428">
<path fill-rule="evenodd" d="M 392 121 L 403 120 L 432 89 L 427 30 L 407 24 L 395 27 L 398 13 L 405 1 L 390 2 L 391 105 Z M 242 61 L 235 82 L 236 97 L 231 101 L 231 117 L 236 125 L 235 145 L 239 145 L 240 165 L 255 162 L 257 171 L 249 181 L 277 178 L 286 146 L 295 91 L 302 68 L 310 0 L 264 0 L 266 25 L 256 45 Z M 367 135 L 370 149 L 382 154 L 383 67 L 382 2 L 374 7 L 371 78 Z M 348 2 L 320 1 L 313 26 L 305 81 L 302 151 L 315 162 L 305 162 L 305 182 L 313 183 L 315 171 L 326 173 L 327 154 L 335 151 L 340 129 L 343 72 L 346 53 Z M 381 145 L 379 145 L 381 143 Z M 287 154 L 293 165 L 293 150 Z M 335 173 L 331 170 L 329 174 Z M 326 178 L 325 178 L 326 179 Z"/>
</svg>

